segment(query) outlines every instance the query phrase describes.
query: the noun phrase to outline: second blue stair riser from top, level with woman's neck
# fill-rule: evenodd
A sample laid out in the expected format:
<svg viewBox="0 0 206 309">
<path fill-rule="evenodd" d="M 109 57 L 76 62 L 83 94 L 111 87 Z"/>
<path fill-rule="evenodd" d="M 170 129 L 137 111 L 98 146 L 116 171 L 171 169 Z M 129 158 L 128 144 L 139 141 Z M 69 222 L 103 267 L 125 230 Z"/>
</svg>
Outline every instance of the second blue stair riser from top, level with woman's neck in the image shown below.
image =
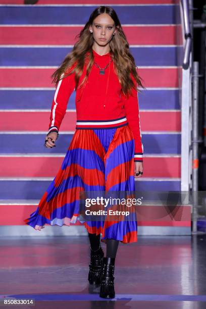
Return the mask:
<svg viewBox="0 0 206 309">
<path fill-rule="evenodd" d="M 0 66 L 59 66 L 72 47 L 2 47 Z M 137 66 L 182 65 L 183 47 L 130 47 Z M 179 60 L 178 60 L 179 59 Z"/>
</svg>

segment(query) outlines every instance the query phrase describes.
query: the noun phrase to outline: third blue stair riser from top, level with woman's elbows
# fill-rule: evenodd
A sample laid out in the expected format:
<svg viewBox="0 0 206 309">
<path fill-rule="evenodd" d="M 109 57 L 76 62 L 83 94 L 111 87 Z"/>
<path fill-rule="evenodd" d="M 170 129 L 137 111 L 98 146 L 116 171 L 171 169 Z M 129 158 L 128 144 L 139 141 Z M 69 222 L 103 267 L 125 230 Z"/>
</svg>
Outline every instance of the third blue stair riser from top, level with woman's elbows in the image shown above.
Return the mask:
<svg viewBox="0 0 206 309">
<path fill-rule="evenodd" d="M 0 110 L 47 109 L 50 110 L 55 90 L 1 90 Z M 74 91 L 68 109 L 76 109 Z M 180 109 L 179 90 L 142 90 L 138 93 L 139 107 L 143 110 Z M 5 104 L 6 102 L 6 104 Z"/>
</svg>

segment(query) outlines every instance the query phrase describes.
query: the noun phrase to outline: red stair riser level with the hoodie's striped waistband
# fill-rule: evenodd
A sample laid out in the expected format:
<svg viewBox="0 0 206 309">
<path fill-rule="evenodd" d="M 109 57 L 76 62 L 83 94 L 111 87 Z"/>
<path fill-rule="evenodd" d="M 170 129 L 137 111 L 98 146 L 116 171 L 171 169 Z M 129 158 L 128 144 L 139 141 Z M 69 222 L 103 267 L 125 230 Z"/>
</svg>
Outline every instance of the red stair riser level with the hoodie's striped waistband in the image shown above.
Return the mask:
<svg viewBox="0 0 206 309">
<path fill-rule="evenodd" d="M 0 112 L 0 131 L 47 131 L 49 116 L 50 112 Z M 35 119 L 38 119 L 38 123 Z M 142 131 L 181 131 L 181 113 L 140 111 L 140 124 Z M 74 131 L 75 128 L 76 112 L 67 112 L 61 131 Z"/>
</svg>

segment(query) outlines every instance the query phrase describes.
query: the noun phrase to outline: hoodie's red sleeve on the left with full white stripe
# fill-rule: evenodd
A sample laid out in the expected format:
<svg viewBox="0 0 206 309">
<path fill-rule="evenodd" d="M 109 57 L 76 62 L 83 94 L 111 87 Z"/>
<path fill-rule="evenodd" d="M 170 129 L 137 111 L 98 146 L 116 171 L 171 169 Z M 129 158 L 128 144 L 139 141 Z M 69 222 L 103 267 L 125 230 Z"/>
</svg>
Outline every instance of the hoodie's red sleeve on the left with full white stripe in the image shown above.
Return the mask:
<svg viewBox="0 0 206 309">
<path fill-rule="evenodd" d="M 65 73 L 63 73 L 62 76 L 64 76 L 64 74 Z M 62 120 L 66 114 L 69 98 L 75 89 L 74 77 L 75 73 L 72 73 L 71 75 L 61 79 L 57 84 L 50 112 L 48 132 L 51 130 L 56 130 L 59 132 Z"/>
</svg>

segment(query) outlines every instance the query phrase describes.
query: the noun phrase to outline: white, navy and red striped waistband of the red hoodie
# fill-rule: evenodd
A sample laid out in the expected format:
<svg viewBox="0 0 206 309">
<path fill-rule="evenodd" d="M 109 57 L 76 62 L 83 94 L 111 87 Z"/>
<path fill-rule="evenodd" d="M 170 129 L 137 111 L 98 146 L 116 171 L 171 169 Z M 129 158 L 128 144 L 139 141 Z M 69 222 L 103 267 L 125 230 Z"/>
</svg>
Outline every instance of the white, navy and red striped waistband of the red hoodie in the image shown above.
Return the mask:
<svg viewBox="0 0 206 309">
<path fill-rule="evenodd" d="M 112 120 L 77 120 L 76 129 L 110 129 L 120 128 L 128 124 L 126 117 Z"/>
</svg>

